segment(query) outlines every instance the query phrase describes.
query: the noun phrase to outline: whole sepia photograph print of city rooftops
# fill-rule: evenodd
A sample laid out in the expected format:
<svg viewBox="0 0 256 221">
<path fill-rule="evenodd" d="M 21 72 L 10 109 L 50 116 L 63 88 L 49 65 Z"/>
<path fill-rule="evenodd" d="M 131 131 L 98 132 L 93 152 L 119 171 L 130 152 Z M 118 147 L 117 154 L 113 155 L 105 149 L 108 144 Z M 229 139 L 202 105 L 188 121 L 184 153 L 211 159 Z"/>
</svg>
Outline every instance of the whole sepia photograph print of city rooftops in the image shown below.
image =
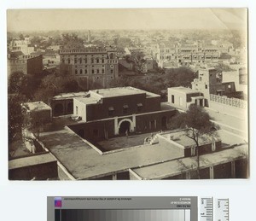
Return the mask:
<svg viewBox="0 0 256 221">
<path fill-rule="evenodd" d="M 9 180 L 249 177 L 247 9 L 8 9 Z"/>
</svg>

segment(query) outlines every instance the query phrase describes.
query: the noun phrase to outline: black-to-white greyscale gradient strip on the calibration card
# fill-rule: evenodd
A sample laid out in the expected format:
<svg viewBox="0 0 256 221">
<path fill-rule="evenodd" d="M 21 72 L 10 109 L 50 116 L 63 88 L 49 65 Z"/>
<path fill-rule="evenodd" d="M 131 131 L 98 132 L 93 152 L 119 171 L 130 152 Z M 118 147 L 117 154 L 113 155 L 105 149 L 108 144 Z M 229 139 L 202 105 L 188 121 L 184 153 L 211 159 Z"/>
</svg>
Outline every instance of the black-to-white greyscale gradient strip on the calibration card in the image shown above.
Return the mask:
<svg viewBox="0 0 256 221">
<path fill-rule="evenodd" d="M 190 209 L 55 209 L 55 221 L 190 221 Z"/>
</svg>

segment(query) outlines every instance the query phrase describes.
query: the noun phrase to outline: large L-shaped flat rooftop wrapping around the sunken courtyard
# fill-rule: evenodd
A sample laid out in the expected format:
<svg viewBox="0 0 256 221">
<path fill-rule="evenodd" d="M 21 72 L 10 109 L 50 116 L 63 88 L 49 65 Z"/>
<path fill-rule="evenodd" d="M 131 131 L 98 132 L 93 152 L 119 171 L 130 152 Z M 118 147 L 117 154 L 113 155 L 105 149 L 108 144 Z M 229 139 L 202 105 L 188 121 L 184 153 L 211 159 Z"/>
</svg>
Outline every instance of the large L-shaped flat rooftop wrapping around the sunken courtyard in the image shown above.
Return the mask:
<svg viewBox="0 0 256 221">
<path fill-rule="evenodd" d="M 45 147 L 55 155 L 76 179 L 104 177 L 113 172 L 148 166 L 183 157 L 165 145 L 141 145 L 113 154 L 99 154 L 69 129 L 40 134 Z"/>
</svg>

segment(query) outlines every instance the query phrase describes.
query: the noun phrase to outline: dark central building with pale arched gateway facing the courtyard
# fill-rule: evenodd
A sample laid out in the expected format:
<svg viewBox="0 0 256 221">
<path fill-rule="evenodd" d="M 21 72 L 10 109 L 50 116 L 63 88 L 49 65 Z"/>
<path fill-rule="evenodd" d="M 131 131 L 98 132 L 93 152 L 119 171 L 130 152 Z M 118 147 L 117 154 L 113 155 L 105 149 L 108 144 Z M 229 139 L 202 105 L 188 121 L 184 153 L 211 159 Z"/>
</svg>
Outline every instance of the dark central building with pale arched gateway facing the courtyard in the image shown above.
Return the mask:
<svg viewBox="0 0 256 221">
<path fill-rule="evenodd" d="M 165 130 L 176 110 L 163 105 L 159 95 L 132 87 L 90 90 L 87 96 L 73 98 L 73 115 L 82 122 L 69 126 L 80 137 L 96 140 Z"/>
</svg>

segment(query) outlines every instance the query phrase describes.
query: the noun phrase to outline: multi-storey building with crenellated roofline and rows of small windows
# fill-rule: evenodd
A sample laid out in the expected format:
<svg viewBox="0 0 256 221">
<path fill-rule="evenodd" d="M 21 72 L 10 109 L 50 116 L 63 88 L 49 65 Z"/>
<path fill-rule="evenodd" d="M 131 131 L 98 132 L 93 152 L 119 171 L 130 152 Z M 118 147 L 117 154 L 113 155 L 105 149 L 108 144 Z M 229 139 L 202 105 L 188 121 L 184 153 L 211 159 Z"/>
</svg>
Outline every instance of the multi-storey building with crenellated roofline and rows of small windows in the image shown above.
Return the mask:
<svg viewBox="0 0 256 221">
<path fill-rule="evenodd" d="M 61 74 L 73 75 L 84 90 L 106 88 L 119 76 L 116 53 L 112 47 L 61 49 Z"/>
</svg>

